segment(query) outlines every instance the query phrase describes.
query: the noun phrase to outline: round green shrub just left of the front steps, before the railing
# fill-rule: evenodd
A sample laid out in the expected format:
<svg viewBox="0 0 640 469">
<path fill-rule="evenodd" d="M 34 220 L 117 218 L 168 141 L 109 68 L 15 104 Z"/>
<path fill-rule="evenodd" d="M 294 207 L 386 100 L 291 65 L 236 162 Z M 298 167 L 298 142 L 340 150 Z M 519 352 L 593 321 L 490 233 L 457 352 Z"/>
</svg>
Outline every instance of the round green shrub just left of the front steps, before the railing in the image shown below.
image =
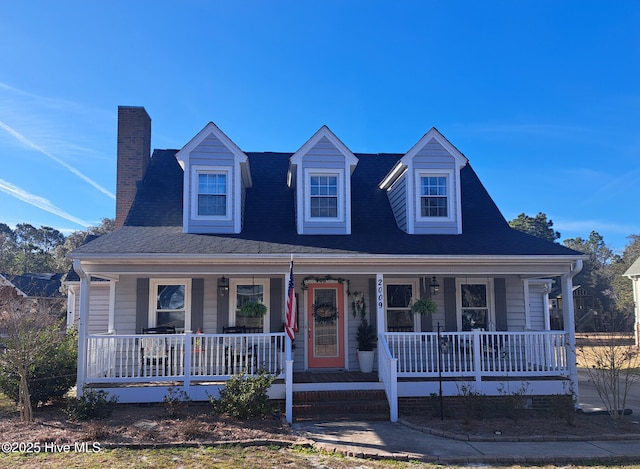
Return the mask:
<svg viewBox="0 0 640 469">
<path fill-rule="evenodd" d="M 209 402 L 215 412 L 238 419 L 267 415 L 272 410 L 267 391 L 274 379 L 264 370 L 256 376 L 233 375 L 220 390 L 220 398 L 209 396 Z"/>
</svg>

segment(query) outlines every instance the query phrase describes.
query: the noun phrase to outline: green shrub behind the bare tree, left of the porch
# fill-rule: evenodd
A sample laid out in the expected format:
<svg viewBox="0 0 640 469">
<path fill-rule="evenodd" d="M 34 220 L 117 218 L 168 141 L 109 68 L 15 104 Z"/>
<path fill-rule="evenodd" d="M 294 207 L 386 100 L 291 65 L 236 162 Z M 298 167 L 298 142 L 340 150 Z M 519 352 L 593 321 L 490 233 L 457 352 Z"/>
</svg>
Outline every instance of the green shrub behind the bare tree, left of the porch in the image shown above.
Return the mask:
<svg viewBox="0 0 640 469">
<path fill-rule="evenodd" d="M 75 332 L 64 333 L 62 340 L 52 342 L 43 358 L 29 369 L 28 381 L 31 402 L 45 404 L 62 398 L 76 383 L 78 337 Z M 11 364 L 0 365 L 0 390 L 18 402 L 20 377 Z"/>
</svg>

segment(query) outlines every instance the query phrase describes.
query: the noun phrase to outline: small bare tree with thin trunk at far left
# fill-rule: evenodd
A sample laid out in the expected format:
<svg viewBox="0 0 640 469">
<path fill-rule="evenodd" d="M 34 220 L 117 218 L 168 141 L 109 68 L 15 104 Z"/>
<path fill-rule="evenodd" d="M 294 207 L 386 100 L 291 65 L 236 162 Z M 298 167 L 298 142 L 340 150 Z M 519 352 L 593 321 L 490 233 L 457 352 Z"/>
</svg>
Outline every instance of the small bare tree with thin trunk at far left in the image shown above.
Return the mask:
<svg viewBox="0 0 640 469">
<path fill-rule="evenodd" d="M 22 421 L 33 421 L 29 370 L 62 340 L 59 321 L 40 302 L 23 298 L 13 287 L 0 287 L 0 331 L 4 353 L 0 365 L 19 377 L 18 407 Z"/>
</svg>

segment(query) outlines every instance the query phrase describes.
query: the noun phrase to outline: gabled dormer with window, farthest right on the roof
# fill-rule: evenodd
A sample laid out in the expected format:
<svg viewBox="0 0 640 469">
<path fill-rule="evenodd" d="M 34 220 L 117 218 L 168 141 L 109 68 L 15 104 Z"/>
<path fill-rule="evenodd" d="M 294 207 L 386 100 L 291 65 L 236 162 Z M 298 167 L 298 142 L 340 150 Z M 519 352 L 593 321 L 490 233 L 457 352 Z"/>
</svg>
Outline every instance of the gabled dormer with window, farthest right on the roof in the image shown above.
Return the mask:
<svg viewBox="0 0 640 469">
<path fill-rule="evenodd" d="M 460 170 L 467 158 L 433 127 L 380 183 L 409 234 L 462 233 Z"/>
</svg>

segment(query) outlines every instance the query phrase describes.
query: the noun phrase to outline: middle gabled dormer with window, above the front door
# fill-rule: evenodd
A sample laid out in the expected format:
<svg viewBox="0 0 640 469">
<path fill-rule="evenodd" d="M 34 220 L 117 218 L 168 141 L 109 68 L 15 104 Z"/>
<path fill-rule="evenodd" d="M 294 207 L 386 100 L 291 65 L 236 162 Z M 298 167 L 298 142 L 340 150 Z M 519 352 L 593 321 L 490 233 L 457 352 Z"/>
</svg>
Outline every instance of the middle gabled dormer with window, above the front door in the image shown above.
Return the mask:
<svg viewBox="0 0 640 469">
<path fill-rule="evenodd" d="M 322 126 L 289 160 L 298 234 L 351 234 L 351 174 L 358 158 Z"/>
</svg>

